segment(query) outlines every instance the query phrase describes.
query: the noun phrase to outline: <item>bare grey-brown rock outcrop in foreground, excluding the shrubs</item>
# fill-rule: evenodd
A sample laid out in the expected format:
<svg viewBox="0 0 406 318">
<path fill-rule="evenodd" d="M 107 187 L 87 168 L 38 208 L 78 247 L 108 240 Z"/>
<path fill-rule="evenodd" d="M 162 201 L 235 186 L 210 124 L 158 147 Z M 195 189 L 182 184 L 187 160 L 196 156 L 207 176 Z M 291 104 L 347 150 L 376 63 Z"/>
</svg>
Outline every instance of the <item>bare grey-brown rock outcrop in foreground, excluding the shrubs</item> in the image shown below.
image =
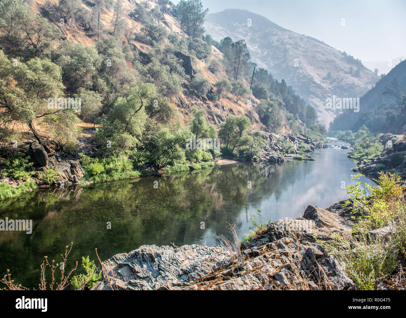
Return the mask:
<svg viewBox="0 0 406 318">
<path fill-rule="evenodd" d="M 339 262 L 315 242 L 315 235 L 326 241 L 333 232 L 350 231 L 353 221 L 343 202 L 326 210 L 308 206 L 302 218 L 272 222 L 240 253 L 218 246 L 144 245 L 117 254 L 102 263 L 102 281 L 92 289 L 352 289 Z"/>
</svg>

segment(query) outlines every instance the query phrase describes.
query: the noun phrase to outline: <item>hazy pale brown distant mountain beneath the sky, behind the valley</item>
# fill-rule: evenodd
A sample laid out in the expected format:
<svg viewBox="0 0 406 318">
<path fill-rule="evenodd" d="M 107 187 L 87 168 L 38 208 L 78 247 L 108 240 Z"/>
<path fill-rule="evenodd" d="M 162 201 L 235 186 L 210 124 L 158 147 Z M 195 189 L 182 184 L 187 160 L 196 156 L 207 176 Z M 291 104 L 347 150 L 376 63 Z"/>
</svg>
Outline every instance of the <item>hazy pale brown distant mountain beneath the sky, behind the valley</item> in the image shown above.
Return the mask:
<svg viewBox="0 0 406 318">
<path fill-rule="evenodd" d="M 227 36 L 233 41 L 245 39 L 253 61 L 291 84 L 327 126 L 337 115 L 336 110 L 326 109 L 327 97 L 360 97 L 379 79 L 345 52 L 249 11 L 208 14 L 205 28 L 217 41 Z"/>
</svg>

